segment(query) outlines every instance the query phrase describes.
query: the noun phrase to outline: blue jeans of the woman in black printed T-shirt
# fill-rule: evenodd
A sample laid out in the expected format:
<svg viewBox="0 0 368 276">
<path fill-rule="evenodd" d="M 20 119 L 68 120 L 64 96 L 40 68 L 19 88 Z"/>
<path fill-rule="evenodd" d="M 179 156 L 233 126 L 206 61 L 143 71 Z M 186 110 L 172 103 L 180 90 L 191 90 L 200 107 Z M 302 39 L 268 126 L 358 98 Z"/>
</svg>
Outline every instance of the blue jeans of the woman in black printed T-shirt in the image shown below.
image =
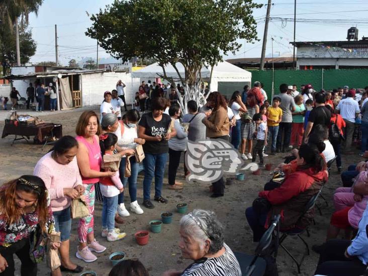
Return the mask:
<svg viewBox="0 0 368 276">
<path fill-rule="evenodd" d="M 143 200 L 150 200 L 151 182 L 155 177 L 155 198 L 161 197 L 163 174 L 165 172 L 167 153 L 151 154 L 145 153 L 143 159 Z"/>
</svg>

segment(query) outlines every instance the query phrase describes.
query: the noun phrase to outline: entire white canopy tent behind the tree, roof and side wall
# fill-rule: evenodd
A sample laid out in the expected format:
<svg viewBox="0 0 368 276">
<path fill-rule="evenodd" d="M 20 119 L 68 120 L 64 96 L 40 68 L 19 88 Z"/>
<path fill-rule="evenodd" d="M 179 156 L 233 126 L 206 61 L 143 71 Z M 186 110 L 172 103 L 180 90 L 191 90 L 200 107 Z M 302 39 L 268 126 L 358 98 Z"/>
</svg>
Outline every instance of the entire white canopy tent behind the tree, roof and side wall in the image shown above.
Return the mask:
<svg viewBox="0 0 368 276">
<path fill-rule="evenodd" d="M 184 73 L 184 67 L 182 66 L 182 64 L 176 63 L 176 68 L 178 69 L 181 77 L 184 78 L 185 73 Z M 168 77 L 172 77 L 174 81 L 176 82 L 180 81 L 179 76 L 176 73 L 176 70 L 171 64 L 167 64 L 165 66 L 165 72 L 166 72 L 166 75 Z M 132 72 L 132 77 L 140 77 L 140 78 L 145 78 L 145 79 L 157 78 L 159 77 L 158 74 L 163 75 L 163 71 L 162 71 L 161 66 L 159 66 L 158 63 L 156 62 L 156 63 L 146 66 L 142 70 Z M 237 88 L 235 90 L 240 90 L 243 88 L 245 84 L 248 84 L 248 85 L 250 84 L 251 77 L 252 77 L 252 74 L 250 72 L 244 69 L 241 69 L 226 61 L 218 63 L 216 66 L 214 66 L 211 80 L 210 80 L 211 67 L 209 68 L 202 67 L 201 74 L 202 74 L 202 78 L 204 81 L 211 82 L 212 91 L 218 91 L 220 88 L 222 88 L 220 89 L 220 92 L 225 93 L 225 94 L 227 94 L 226 93 L 227 91 L 223 91 L 223 89 L 225 87 L 233 86 L 231 85 L 231 83 L 237 83 L 236 84 Z M 244 83 L 244 84 L 240 84 L 240 83 Z M 221 85 L 221 84 L 225 84 L 225 85 Z M 243 85 L 243 86 L 239 87 L 239 85 Z M 234 91 L 233 89 L 231 90 L 232 92 Z"/>
</svg>

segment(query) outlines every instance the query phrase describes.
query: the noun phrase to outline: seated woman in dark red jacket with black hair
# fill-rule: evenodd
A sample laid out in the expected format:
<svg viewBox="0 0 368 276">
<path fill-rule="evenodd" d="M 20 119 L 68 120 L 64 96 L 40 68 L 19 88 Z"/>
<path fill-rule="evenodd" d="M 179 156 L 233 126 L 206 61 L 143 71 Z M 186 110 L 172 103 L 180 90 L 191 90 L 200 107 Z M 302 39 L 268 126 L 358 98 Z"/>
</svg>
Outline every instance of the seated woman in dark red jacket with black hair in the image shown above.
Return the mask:
<svg viewBox="0 0 368 276">
<path fill-rule="evenodd" d="M 281 215 L 281 229 L 304 229 L 313 219 L 313 211 L 303 214 L 309 200 L 318 193 L 322 183 L 327 181 L 326 163 L 314 144 L 300 146 L 297 171 L 287 175 L 281 187 L 272 191 L 262 191 L 260 198 L 270 204 L 268 211 L 247 208 L 245 214 L 253 230 L 253 241 L 257 242 L 268 227 L 269 219 Z M 303 219 L 300 219 L 303 216 Z"/>
</svg>

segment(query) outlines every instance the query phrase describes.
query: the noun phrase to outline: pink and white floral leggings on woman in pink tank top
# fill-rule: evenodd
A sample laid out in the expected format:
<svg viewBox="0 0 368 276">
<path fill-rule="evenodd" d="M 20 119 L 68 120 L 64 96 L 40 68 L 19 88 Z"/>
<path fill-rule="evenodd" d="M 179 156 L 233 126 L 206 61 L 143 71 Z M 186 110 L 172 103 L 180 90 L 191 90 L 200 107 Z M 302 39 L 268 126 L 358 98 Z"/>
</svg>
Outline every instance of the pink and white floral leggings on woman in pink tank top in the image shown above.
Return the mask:
<svg viewBox="0 0 368 276">
<path fill-rule="evenodd" d="M 87 242 L 87 235 L 94 232 L 94 213 L 95 213 L 95 183 L 84 185 L 83 197 L 89 208 L 89 216 L 79 219 L 78 241 Z"/>
</svg>

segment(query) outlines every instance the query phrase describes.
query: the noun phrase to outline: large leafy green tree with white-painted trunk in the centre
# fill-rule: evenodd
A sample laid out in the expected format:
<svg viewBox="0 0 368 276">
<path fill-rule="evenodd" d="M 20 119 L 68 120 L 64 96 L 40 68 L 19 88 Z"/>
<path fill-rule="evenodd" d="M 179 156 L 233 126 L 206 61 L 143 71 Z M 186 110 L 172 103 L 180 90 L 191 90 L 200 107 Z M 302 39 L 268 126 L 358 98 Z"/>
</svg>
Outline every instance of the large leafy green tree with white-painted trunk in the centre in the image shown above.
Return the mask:
<svg viewBox="0 0 368 276">
<path fill-rule="evenodd" d="M 256 24 L 252 0 L 126 0 L 115 1 L 96 15 L 86 35 L 116 58 L 154 58 L 163 69 L 171 64 L 185 87 L 189 100 L 203 101 L 201 68 L 213 68 L 223 55 L 240 49 L 238 39 L 253 42 Z M 180 75 L 176 63 L 185 68 Z"/>
</svg>

